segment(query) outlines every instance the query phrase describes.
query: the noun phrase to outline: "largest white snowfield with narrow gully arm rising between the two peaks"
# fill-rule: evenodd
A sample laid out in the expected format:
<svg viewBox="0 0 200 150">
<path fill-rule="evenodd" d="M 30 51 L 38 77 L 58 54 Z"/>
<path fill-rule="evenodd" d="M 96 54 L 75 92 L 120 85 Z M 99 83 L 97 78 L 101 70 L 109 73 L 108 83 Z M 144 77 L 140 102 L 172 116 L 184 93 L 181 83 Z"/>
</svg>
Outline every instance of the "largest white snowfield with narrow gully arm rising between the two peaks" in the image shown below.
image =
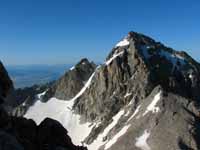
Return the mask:
<svg viewBox="0 0 200 150">
<path fill-rule="evenodd" d="M 68 130 L 69 136 L 72 138 L 74 144 L 80 145 L 89 135 L 94 125 L 91 126 L 88 122 L 81 124 L 80 115 L 74 114 L 72 107 L 75 100 L 90 86 L 94 74 L 95 73 L 91 75 L 81 91 L 71 100 L 64 101 L 51 98 L 46 103 L 37 100 L 36 103 L 29 108 L 25 117 L 35 120 L 37 124 L 43 121 L 46 117 L 59 121 Z M 39 97 L 40 95 L 38 98 Z"/>
</svg>

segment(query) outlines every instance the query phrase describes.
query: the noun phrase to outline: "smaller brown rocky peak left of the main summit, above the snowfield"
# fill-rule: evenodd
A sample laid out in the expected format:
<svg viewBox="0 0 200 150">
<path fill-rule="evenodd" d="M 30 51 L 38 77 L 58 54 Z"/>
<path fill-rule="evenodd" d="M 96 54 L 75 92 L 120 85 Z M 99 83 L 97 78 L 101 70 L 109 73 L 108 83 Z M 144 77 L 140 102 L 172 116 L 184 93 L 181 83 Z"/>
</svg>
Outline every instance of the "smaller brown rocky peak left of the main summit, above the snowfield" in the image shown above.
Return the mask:
<svg viewBox="0 0 200 150">
<path fill-rule="evenodd" d="M 43 100 L 47 101 L 51 97 L 62 100 L 73 98 L 84 86 L 95 68 L 96 65 L 93 62 L 89 62 L 86 58 L 82 59 L 47 90 Z"/>
</svg>

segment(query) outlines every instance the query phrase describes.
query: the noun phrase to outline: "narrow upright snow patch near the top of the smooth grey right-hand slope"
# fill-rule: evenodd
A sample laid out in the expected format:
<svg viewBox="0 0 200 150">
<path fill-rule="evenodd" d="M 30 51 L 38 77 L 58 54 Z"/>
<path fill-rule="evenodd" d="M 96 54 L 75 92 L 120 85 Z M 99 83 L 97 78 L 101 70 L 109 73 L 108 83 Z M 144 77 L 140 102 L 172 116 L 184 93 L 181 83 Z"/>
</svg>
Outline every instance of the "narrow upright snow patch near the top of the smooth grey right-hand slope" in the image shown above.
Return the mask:
<svg viewBox="0 0 200 150">
<path fill-rule="evenodd" d="M 147 107 L 146 111 L 144 112 L 143 116 L 145 116 L 148 112 L 153 112 L 153 113 L 157 113 L 160 111 L 159 107 L 156 107 L 157 103 L 159 102 L 159 100 L 161 99 L 161 94 L 162 91 L 158 92 L 158 94 L 156 94 L 154 96 L 154 99 L 152 100 L 152 102 L 149 104 L 149 106 Z"/>
</svg>

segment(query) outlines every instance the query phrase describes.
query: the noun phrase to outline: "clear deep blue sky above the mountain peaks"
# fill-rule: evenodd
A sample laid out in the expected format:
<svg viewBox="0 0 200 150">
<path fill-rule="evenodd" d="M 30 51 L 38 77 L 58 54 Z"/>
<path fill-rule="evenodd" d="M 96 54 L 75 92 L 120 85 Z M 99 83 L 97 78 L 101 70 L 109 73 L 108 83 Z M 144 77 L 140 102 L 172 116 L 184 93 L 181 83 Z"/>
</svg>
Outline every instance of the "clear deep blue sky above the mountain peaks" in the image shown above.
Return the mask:
<svg viewBox="0 0 200 150">
<path fill-rule="evenodd" d="M 101 62 L 133 30 L 200 60 L 200 0 L 1 0 L 5 64 Z"/>
</svg>

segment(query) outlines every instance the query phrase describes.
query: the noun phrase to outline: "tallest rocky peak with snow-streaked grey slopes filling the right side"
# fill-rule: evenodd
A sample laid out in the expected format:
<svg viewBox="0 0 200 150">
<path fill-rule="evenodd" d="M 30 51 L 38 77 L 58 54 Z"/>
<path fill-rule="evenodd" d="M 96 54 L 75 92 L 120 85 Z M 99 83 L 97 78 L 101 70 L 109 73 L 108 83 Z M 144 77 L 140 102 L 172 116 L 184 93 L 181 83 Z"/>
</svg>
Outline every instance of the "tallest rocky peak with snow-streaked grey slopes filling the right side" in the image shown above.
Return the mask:
<svg viewBox="0 0 200 150">
<path fill-rule="evenodd" d="M 95 70 L 90 87 L 73 108 L 83 120 L 100 122 L 85 139 L 89 145 L 124 111 L 98 149 L 198 150 L 199 91 L 198 62 L 130 32 Z M 145 136 L 146 141 L 140 141 Z"/>
</svg>

